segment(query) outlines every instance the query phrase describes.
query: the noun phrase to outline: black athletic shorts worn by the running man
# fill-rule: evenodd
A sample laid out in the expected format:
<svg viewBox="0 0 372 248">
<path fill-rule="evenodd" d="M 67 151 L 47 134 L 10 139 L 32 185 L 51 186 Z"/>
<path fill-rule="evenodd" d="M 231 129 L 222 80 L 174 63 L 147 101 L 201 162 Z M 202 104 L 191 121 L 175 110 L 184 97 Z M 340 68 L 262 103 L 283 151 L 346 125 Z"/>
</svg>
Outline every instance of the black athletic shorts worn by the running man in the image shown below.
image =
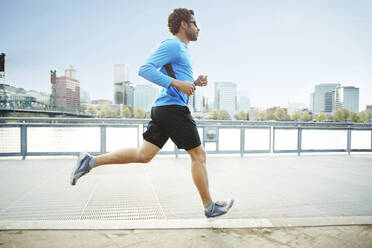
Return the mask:
<svg viewBox="0 0 372 248">
<path fill-rule="evenodd" d="M 198 129 L 186 106 L 168 105 L 152 107 L 151 121 L 143 139 L 163 148 L 171 140 L 178 149 L 191 150 L 201 145 Z"/>
</svg>

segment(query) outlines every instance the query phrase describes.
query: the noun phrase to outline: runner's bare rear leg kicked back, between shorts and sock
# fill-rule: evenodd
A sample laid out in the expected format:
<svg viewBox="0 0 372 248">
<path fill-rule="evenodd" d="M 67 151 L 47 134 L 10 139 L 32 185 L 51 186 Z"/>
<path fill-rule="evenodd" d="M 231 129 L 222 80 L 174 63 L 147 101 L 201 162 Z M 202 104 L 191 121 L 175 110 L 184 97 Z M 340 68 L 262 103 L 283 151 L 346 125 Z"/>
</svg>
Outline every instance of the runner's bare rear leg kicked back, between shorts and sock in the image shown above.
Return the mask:
<svg viewBox="0 0 372 248">
<path fill-rule="evenodd" d="M 122 148 L 97 156 L 96 166 L 105 164 L 148 163 L 159 151 L 159 147 L 144 140 L 140 148 Z"/>
</svg>

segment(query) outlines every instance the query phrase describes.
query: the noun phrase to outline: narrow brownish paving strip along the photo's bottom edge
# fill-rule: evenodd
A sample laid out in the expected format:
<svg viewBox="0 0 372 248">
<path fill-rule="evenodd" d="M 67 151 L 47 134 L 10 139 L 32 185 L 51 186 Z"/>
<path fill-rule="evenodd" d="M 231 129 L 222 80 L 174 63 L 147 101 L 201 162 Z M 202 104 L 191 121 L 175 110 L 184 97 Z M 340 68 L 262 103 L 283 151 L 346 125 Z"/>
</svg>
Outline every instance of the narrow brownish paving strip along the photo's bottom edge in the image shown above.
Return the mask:
<svg viewBox="0 0 372 248">
<path fill-rule="evenodd" d="M 370 248 L 372 226 L 1 231 L 1 248 Z"/>
</svg>

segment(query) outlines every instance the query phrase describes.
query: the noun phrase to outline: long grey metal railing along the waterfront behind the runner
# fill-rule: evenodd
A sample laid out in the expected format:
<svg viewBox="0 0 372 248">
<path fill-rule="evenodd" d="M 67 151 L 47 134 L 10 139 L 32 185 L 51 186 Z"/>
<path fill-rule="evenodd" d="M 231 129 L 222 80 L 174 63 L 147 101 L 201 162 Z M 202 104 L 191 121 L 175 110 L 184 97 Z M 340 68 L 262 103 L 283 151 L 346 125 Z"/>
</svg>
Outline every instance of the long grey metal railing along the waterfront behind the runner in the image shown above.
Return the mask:
<svg viewBox="0 0 372 248">
<path fill-rule="evenodd" d="M 115 128 L 134 128 L 136 130 L 136 146 L 140 146 L 141 134 L 146 129 L 149 120 L 136 119 L 84 119 L 84 118 L 0 118 L 0 156 L 22 156 L 24 159 L 27 156 L 50 156 L 50 155 L 76 155 L 80 151 L 30 151 L 29 143 L 42 142 L 35 138 L 35 135 L 30 137 L 30 132 L 35 128 L 77 128 L 83 130 L 86 128 L 99 129 L 99 149 L 90 151 L 93 154 L 102 154 L 107 152 L 107 130 Z M 209 144 L 214 144 L 215 149 L 206 149 L 209 154 L 240 154 L 243 156 L 248 153 L 297 153 L 300 155 L 305 152 L 372 152 L 372 124 L 359 123 L 315 123 L 315 122 L 277 122 L 277 121 L 197 121 L 198 129 L 201 133 L 201 140 L 204 147 Z M 19 141 L 15 141 L 17 151 L 3 151 L 2 147 L 7 146 L 7 128 L 12 128 L 15 136 L 19 130 Z M 15 130 L 14 130 L 15 129 Z M 229 131 L 230 130 L 230 131 Z M 235 130 L 235 131 L 231 131 Z M 296 147 L 292 149 L 278 149 L 277 133 L 283 130 L 292 130 L 296 132 Z M 303 132 L 308 135 L 309 131 L 343 131 L 346 132 L 346 145 L 342 148 L 303 148 Z M 364 131 L 364 139 L 369 140 L 369 147 L 352 148 L 352 133 L 354 131 Z M 221 141 L 221 134 L 227 132 L 239 133 L 240 143 L 238 149 L 222 149 L 225 143 Z M 256 134 L 259 134 L 258 136 Z M 66 134 L 69 135 L 69 134 Z M 71 135 L 71 134 L 70 134 Z M 260 136 L 261 135 L 261 136 Z M 369 135 L 369 137 L 367 137 Z M 226 135 L 225 135 L 226 136 Z M 263 143 L 260 148 L 254 148 L 254 143 L 260 141 Z M 323 142 L 320 140 L 319 142 Z M 342 142 L 345 140 L 342 139 Z M 54 141 L 53 141 L 54 142 Z M 58 140 L 56 141 L 58 142 Z M 71 141 L 71 143 L 74 143 Z M 252 145 L 253 144 L 253 145 Z M 49 144 L 43 144 L 49 146 Z M 64 144 L 71 146 L 72 144 Z M 253 148 L 252 148 L 253 147 Z M 6 150 L 6 149 L 5 149 Z M 185 151 L 180 151 L 174 145 L 172 150 L 162 150 L 160 154 L 186 154 Z"/>
</svg>

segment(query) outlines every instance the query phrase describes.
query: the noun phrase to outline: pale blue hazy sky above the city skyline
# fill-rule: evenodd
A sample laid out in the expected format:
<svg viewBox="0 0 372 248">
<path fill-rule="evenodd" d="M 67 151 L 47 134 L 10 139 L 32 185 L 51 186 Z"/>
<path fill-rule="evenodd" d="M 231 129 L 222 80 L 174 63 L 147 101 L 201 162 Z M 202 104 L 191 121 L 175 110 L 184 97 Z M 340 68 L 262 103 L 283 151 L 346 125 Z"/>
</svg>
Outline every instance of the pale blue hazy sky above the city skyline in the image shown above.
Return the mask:
<svg viewBox="0 0 372 248">
<path fill-rule="evenodd" d="M 309 104 L 319 83 L 360 88 L 360 110 L 372 104 L 370 0 L 0 0 L 0 52 L 7 83 L 50 93 L 73 65 L 93 99 L 113 98 L 113 65 L 129 79 L 170 36 L 174 8 L 195 11 L 201 31 L 190 44 L 194 76 L 237 83 L 252 106 Z"/>
</svg>

